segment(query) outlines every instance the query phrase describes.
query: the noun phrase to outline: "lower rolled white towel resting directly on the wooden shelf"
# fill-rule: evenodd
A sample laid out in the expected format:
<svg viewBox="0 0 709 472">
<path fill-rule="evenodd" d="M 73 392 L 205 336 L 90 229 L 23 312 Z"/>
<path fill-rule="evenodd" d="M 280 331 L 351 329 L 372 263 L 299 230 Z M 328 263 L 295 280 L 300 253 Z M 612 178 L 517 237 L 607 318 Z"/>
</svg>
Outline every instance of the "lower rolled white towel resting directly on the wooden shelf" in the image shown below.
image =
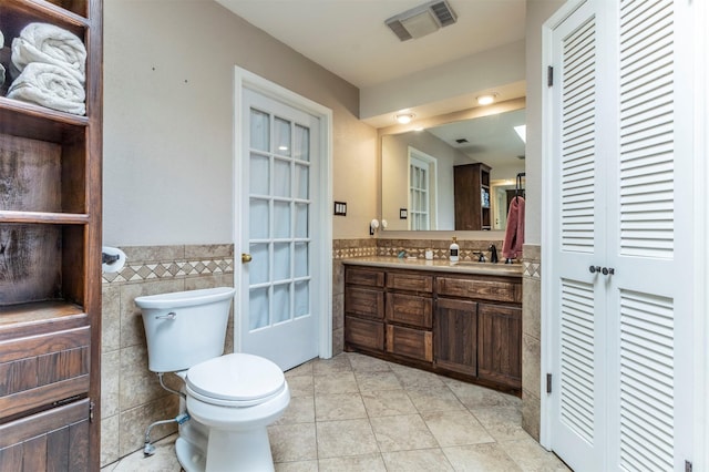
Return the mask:
<svg viewBox="0 0 709 472">
<path fill-rule="evenodd" d="M 76 115 L 86 114 L 84 86 L 65 69 L 30 62 L 12 82 L 8 98 Z"/>
</svg>

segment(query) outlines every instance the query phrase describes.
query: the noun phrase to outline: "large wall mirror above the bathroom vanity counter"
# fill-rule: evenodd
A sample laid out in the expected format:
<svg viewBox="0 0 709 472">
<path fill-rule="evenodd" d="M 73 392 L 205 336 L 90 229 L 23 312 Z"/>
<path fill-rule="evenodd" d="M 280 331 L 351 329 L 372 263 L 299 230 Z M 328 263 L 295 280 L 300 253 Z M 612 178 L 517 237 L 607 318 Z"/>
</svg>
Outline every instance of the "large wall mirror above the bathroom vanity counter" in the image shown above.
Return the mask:
<svg viewBox="0 0 709 472">
<path fill-rule="evenodd" d="M 517 174 L 525 172 L 525 143 L 515 132 L 525 124 L 524 100 L 514 102 L 381 133 L 387 230 L 505 229 Z M 463 177 L 469 171 L 476 177 Z M 466 197 L 473 189 L 480 195 Z M 469 218 L 472 227 L 463 222 Z"/>
</svg>

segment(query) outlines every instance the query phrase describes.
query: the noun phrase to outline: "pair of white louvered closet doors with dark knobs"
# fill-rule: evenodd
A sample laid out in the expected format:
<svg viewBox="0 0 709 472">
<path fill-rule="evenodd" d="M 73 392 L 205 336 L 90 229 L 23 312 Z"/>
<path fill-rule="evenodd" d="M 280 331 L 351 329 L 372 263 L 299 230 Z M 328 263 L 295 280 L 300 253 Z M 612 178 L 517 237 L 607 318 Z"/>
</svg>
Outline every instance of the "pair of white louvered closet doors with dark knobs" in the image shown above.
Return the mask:
<svg viewBox="0 0 709 472">
<path fill-rule="evenodd" d="M 691 107 L 676 93 L 679 3 L 588 1 L 554 32 L 552 434 L 576 471 L 679 471 L 690 456 Z"/>
</svg>

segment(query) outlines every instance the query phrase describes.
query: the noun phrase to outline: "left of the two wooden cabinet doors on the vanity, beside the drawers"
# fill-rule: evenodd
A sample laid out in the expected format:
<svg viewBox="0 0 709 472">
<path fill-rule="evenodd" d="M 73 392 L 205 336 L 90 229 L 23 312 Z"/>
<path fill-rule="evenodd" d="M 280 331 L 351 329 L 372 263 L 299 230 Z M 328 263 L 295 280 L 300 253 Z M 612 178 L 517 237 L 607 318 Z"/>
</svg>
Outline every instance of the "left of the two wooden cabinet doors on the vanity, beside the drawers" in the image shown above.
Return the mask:
<svg viewBox="0 0 709 472">
<path fill-rule="evenodd" d="M 477 304 L 439 298 L 435 301 L 433 352 L 436 367 L 477 374 Z"/>
</svg>

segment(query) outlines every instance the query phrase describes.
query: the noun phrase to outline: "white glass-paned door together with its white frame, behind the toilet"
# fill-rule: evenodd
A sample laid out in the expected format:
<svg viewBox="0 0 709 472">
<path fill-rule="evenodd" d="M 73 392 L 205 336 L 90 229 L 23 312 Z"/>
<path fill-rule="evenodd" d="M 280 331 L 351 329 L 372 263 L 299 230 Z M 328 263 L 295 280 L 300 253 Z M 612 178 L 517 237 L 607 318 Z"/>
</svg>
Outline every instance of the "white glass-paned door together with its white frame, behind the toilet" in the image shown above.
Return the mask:
<svg viewBox="0 0 709 472">
<path fill-rule="evenodd" d="M 331 356 L 331 114 L 236 78 L 235 350 L 287 370 Z"/>
</svg>

